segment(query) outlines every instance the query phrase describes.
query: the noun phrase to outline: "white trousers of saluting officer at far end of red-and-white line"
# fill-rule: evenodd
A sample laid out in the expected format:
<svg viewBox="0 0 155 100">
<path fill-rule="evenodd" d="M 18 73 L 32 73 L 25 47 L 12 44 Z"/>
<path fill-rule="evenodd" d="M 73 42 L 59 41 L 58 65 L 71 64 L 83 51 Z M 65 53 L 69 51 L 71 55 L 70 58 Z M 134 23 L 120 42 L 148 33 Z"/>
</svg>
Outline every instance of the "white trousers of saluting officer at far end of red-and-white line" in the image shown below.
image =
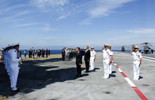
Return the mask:
<svg viewBox="0 0 155 100">
<path fill-rule="evenodd" d="M 104 66 L 104 78 L 109 77 L 109 59 L 103 60 L 103 66 Z"/>
</svg>

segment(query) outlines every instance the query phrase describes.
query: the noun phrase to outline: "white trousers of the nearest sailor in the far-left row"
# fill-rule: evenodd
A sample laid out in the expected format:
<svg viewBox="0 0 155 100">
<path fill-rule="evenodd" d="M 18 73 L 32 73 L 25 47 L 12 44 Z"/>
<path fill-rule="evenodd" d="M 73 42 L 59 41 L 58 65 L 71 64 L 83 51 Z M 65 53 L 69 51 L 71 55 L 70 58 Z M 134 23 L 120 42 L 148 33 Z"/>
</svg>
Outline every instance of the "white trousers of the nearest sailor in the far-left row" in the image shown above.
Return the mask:
<svg viewBox="0 0 155 100">
<path fill-rule="evenodd" d="M 10 75 L 11 88 L 12 88 L 12 90 L 17 90 L 16 86 L 17 86 L 17 79 L 18 79 L 18 74 L 19 74 L 19 67 L 11 66 L 10 70 L 11 70 L 11 75 Z"/>
</svg>

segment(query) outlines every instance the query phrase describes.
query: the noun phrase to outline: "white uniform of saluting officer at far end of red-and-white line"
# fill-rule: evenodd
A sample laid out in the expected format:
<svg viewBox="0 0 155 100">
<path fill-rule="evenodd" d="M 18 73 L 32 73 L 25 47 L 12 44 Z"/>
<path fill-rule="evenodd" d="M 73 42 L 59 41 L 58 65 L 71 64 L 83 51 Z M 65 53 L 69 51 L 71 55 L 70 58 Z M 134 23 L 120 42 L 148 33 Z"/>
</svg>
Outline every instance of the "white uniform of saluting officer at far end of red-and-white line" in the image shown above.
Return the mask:
<svg viewBox="0 0 155 100">
<path fill-rule="evenodd" d="M 109 62 L 110 62 L 110 55 L 111 52 L 109 49 L 102 50 L 103 51 L 103 66 L 104 66 L 104 78 L 109 77 Z"/>
</svg>

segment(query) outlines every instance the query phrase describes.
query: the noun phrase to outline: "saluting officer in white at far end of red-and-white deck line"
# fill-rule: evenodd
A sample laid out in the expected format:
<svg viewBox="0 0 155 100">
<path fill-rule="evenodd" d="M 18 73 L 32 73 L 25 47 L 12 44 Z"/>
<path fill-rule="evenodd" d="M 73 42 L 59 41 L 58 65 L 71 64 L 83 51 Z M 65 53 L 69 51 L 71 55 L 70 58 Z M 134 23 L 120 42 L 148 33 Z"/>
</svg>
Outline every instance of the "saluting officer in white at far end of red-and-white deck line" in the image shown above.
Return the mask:
<svg viewBox="0 0 155 100">
<path fill-rule="evenodd" d="M 108 45 L 104 45 L 102 47 L 102 52 L 103 52 L 103 66 L 104 66 L 104 77 L 105 79 L 109 78 L 109 66 L 112 63 L 112 54 L 109 50 Z"/>
</svg>

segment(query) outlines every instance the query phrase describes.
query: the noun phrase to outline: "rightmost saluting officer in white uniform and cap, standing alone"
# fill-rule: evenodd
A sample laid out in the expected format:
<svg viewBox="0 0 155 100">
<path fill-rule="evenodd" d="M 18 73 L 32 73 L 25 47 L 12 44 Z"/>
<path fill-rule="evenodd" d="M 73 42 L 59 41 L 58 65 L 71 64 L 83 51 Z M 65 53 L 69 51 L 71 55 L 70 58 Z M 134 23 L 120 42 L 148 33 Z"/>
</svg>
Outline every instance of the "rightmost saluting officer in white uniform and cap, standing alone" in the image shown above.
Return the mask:
<svg viewBox="0 0 155 100">
<path fill-rule="evenodd" d="M 142 54 L 138 51 L 139 47 L 134 46 L 131 50 L 131 54 L 133 55 L 133 72 L 134 78 L 133 80 L 139 80 L 139 72 L 140 72 L 140 65 L 142 63 Z"/>
</svg>

